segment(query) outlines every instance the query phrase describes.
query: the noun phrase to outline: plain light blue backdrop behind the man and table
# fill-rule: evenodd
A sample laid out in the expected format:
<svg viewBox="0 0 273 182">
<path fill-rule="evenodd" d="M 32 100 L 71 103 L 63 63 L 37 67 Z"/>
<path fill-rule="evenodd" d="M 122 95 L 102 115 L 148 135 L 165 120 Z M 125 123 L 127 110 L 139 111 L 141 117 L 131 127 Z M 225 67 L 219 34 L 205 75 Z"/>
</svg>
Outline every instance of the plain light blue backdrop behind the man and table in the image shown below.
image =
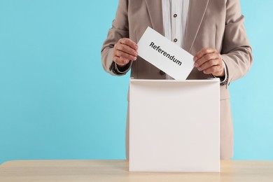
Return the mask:
<svg viewBox="0 0 273 182">
<path fill-rule="evenodd" d="M 0 0 L 0 163 L 125 159 L 129 76 L 100 49 L 118 0 Z M 273 160 L 272 11 L 241 0 L 255 62 L 230 85 L 235 160 Z"/>
</svg>

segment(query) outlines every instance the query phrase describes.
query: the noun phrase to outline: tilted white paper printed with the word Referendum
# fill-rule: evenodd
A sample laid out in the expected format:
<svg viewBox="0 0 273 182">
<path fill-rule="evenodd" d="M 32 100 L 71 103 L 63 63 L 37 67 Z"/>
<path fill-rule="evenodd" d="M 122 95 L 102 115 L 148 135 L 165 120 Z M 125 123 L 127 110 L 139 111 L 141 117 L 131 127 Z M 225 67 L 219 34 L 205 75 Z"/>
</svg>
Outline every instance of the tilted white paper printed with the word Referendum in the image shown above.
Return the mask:
<svg viewBox="0 0 273 182">
<path fill-rule="evenodd" d="M 193 55 L 148 27 L 139 40 L 139 56 L 176 80 L 186 80 L 193 70 Z"/>
</svg>

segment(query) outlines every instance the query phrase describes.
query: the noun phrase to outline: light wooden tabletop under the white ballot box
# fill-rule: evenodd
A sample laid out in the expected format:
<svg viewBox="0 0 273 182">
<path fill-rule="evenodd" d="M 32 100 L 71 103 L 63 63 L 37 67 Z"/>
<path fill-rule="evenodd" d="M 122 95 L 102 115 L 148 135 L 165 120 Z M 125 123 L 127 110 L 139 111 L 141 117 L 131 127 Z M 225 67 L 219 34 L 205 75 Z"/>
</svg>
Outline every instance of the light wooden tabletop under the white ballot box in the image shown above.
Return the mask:
<svg viewBox="0 0 273 182">
<path fill-rule="evenodd" d="M 126 160 L 18 160 L 0 165 L 0 181 L 272 182 L 273 161 L 221 161 L 221 173 L 128 172 Z"/>
</svg>

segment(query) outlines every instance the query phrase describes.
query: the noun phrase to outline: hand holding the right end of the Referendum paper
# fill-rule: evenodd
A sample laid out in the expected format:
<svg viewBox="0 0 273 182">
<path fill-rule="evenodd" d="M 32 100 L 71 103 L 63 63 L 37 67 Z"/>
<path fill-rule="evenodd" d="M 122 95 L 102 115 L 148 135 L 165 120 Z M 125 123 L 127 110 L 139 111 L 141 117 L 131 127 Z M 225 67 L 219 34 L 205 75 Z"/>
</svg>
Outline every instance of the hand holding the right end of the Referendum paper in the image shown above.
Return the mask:
<svg viewBox="0 0 273 182">
<path fill-rule="evenodd" d="M 221 54 L 214 48 L 202 48 L 195 57 L 195 67 L 205 74 L 225 76 L 224 63 Z"/>
</svg>

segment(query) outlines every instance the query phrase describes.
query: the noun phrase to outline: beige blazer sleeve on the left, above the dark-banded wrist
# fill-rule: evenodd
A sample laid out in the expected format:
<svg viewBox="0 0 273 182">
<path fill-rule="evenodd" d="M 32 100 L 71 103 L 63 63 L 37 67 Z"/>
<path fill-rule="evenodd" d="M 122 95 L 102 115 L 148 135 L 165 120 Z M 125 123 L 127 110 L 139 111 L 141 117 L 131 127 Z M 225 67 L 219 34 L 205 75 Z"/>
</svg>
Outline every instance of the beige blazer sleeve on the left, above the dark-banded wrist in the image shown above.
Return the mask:
<svg viewBox="0 0 273 182">
<path fill-rule="evenodd" d="M 120 38 L 129 38 L 129 22 L 127 17 L 127 0 L 120 0 L 118 3 L 118 10 L 116 13 L 116 18 L 112 22 L 112 28 L 109 29 L 106 41 L 102 45 L 102 66 L 105 71 L 111 73 L 111 75 L 124 75 L 130 70 L 132 61 L 127 66 L 127 70 L 120 72 L 115 71 L 117 67 L 115 62 L 113 62 L 113 47 L 115 43 L 118 42 Z"/>
</svg>

